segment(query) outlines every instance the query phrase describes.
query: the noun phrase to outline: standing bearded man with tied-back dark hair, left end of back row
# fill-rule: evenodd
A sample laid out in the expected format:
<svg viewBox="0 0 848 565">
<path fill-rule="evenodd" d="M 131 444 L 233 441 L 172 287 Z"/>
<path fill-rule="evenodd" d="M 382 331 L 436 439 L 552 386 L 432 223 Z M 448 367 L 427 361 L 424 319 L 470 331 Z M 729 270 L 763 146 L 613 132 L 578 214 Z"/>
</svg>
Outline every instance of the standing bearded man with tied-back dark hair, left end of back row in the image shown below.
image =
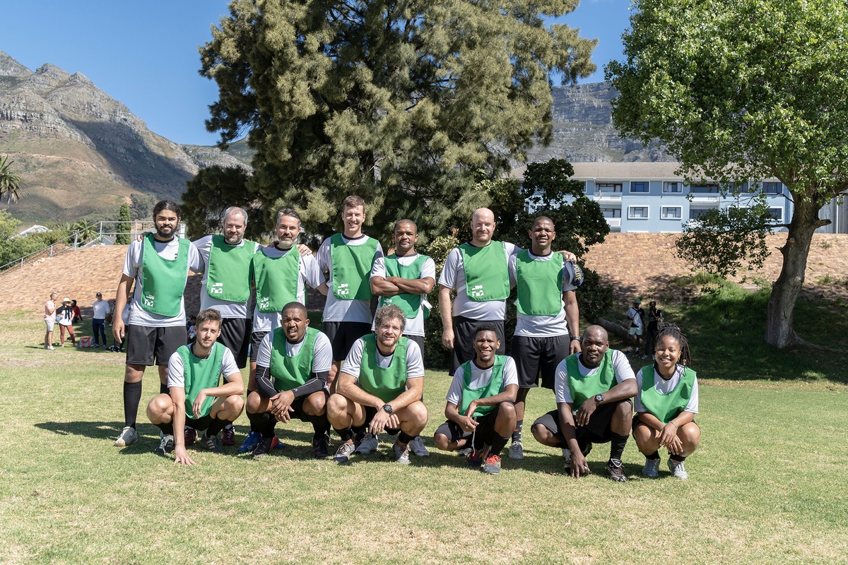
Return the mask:
<svg viewBox="0 0 848 565">
<path fill-rule="evenodd" d="M 126 250 L 124 269 L 115 294 L 112 333 L 115 341 L 130 341 L 126 348 L 124 372 L 124 429 L 115 446 L 129 446 L 138 440 L 136 418 L 142 399 L 142 376 L 146 367 L 159 367 L 159 392 L 167 393 L 168 360 L 177 347 L 186 344 L 186 291 L 188 271 L 200 273 L 204 260 L 191 241 L 177 236 L 180 207 L 163 200 L 153 207 L 156 233 L 133 241 Z M 135 280 L 129 310 L 129 324 L 117 313 L 123 312 L 130 285 Z"/>
</svg>

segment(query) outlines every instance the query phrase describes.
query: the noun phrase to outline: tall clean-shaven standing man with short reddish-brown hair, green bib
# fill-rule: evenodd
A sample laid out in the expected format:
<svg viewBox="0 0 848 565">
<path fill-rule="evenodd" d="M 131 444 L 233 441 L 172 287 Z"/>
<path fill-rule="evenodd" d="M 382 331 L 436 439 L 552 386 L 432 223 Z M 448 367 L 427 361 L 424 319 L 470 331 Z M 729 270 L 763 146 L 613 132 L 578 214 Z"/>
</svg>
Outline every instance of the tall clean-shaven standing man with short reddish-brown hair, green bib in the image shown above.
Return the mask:
<svg viewBox="0 0 848 565">
<path fill-rule="evenodd" d="M 318 264 L 325 274 L 327 293 L 321 331 L 332 343 L 332 369 L 327 377 L 330 391 L 338 368 L 354 341 L 371 332 L 371 269 L 382 258 L 382 246 L 362 233 L 365 201 L 350 196 L 342 202 L 344 230 L 321 243 Z"/>
</svg>

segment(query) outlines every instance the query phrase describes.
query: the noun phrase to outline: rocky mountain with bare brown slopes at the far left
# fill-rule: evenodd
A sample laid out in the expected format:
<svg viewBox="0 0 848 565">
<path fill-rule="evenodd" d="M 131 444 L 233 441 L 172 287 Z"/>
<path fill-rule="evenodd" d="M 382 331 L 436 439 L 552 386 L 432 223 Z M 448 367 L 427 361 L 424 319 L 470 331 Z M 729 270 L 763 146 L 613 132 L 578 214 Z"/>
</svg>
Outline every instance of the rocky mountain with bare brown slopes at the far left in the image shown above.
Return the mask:
<svg viewBox="0 0 848 565">
<path fill-rule="evenodd" d="M 32 72 L 3 52 L 0 154 L 25 191 L 9 212 L 41 223 L 116 218 L 133 192 L 179 201 L 201 167 L 248 167 L 215 147 L 156 135 L 81 73 L 52 64 Z"/>
</svg>

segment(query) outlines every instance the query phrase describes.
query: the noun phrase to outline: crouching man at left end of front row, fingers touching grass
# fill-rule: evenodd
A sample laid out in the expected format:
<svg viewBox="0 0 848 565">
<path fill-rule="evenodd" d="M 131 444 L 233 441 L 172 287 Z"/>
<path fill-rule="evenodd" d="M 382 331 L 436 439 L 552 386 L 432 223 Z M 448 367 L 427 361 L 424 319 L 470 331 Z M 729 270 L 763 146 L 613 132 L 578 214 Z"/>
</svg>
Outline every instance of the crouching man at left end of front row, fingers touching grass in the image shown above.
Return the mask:
<svg viewBox="0 0 848 565">
<path fill-rule="evenodd" d="M 205 429 L 198 443 L 220 453 L 218 433 L 232 424 L 244 407 L 244 381 L 236 358 L 216 341 L 220 323 L 217 310 L 208 308 L 198 313 L 197 340 L 190 346 L 179 346 L 168 359 L 170 396 L 153 396 L 148 404 L 150 422 L 162 430 L 156 452 L 165 455 L 173 450 L 175 463 L 194 464 L 186 451 L 185 435 L 177 434 L 175 440 L 174 429 L 181 430 L 186 424 Z M 221 374 L 224 385 L 220 385 Z"/>
</svg>

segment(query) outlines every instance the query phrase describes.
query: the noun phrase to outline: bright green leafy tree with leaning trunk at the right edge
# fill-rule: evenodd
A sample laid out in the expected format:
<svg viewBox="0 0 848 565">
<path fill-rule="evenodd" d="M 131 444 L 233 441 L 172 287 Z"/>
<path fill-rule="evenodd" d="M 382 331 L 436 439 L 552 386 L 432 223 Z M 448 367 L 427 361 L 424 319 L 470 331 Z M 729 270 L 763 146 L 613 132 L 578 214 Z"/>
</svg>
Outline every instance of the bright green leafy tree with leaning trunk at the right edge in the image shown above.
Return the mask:
<svg viewBox="0 0 848 565">
<path fill-rule="evenodd" d="M 848 188 L 848 8 L 842 0 L 636 0 L 623 62 L 622 136 L 659 140 L 687 180 L 775 177 L 795 211 L 772 287 L 765 339 L 806 343 L 795 301 L 819 208 Z"/>
</svg>

